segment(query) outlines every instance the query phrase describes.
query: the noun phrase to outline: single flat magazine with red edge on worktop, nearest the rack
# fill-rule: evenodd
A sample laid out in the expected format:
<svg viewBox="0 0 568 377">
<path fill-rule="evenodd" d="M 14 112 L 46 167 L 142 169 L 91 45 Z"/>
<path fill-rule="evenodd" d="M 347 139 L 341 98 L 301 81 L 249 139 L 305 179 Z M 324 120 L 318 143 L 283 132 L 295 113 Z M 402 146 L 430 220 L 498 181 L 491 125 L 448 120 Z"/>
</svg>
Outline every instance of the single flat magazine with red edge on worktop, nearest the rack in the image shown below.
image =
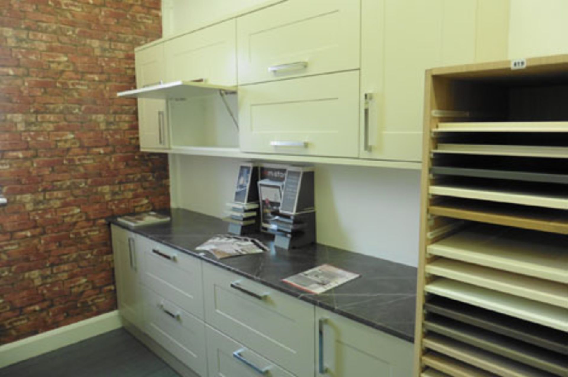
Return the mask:
<svg viewBox="0 0 568 377">
<path fill-rule="evenodd" d="M 342 284 L 357 279 L 361 275 L 338 269 L 331 265 L 321 265 L 314 269 L 304 271 L 289 278 L 282 279 L 300 290 L 319 295 Z"/>
</svg>

